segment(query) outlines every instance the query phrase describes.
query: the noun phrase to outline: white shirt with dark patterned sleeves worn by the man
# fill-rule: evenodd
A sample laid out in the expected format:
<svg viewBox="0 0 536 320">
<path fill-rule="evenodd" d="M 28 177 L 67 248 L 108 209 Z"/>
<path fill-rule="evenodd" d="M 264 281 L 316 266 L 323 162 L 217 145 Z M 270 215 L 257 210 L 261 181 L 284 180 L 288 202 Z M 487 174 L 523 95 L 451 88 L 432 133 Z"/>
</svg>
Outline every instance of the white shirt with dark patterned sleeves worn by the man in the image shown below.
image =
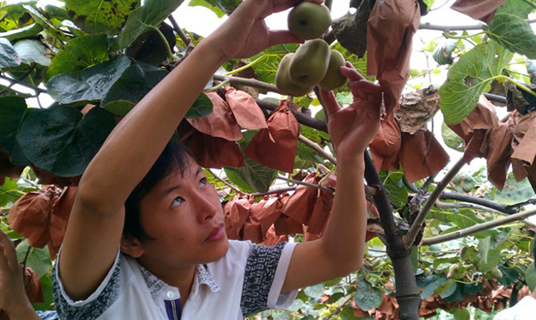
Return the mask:
<svg viewBox="0 0 536 320">
<path fill-rule="evenodd" d="M 117 255 L 97 290 L 83 301 L 68 297 L 56 268 L 54 301 L 59 318 L 68 320 L 243 319 L 265 309 L 287 308 L 294 301 L 297 291 L 281 294 L 294 246 L 229 240 L 224 257 L 197 267 L 184 307 L 176 287 L 124 254 Z"/>
</svg>

